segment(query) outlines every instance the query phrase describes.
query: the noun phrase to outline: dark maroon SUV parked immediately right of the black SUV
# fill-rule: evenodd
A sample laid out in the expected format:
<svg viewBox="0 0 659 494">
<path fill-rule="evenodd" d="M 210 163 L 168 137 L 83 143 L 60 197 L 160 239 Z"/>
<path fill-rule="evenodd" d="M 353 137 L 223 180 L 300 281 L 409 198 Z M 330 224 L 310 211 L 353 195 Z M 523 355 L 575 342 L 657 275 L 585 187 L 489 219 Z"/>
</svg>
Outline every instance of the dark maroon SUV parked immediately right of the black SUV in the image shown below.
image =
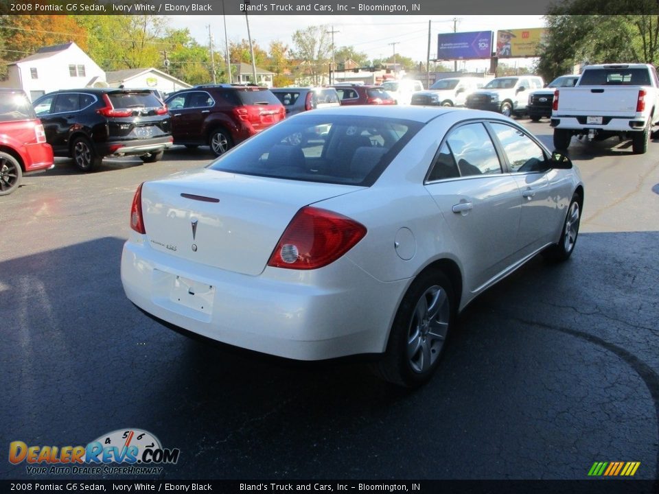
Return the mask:
<svg viewBox="0 0 659 494">
<path fill-rule="evenodd" d="M 259 86 L 196 86 L 170 95 L 165 102 L 174 144 L 209 145 L 215 156 L 286 116 L 279 99 Z"/>
</svg>

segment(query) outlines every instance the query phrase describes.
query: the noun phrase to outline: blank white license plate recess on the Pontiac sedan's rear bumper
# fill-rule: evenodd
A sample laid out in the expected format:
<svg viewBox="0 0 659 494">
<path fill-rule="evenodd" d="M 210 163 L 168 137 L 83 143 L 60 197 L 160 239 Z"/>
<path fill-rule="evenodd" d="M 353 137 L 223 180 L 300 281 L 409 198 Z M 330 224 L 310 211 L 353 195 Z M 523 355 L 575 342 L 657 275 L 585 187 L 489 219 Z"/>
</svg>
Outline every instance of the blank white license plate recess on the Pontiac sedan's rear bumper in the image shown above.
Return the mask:
<svg viewBox="0 0 659 494">
<path fill-rule="evenodd" d="M 153 271 L 153 301 L 186 316 L 209 320 L 216 287 L 161 270 Z M 193 314 L 197 314 L 194 316 Z"/>
</svg>

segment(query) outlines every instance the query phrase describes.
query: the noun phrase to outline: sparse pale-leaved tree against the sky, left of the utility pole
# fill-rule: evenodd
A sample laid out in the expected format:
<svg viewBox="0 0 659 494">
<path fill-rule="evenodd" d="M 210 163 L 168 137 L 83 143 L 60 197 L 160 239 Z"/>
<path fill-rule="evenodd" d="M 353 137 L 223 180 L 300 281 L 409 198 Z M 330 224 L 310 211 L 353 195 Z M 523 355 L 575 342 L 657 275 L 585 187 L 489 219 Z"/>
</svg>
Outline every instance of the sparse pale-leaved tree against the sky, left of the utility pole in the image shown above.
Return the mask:
<svg viewBox="0 0 659 494">
<path fill-rule="evenodd" d="M 300 62 L 299 72 L 311 84 L 323 83 L 323 73 L 329 71 L 332 45 L 327 26 L 309 26 L 293 33 L 293 55 Z"/>
</svg>

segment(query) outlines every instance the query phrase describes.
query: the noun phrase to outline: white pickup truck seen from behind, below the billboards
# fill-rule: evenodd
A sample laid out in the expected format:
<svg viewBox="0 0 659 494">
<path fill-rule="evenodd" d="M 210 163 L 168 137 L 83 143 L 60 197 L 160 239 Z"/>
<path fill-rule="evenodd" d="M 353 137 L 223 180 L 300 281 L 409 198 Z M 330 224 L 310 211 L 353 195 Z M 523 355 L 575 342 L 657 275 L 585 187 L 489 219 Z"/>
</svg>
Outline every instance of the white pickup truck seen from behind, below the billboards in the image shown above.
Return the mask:
<svg viewBox="0 0 659 494">
<path fill-rule="evenodd" d="M 632 139 L 636 154 L 647 151 L 659 123 L 659 78 L 649 64 L 588 65 L 573 88 L 554 92 L 551 126 L 554 146 L 566 150 L 580 139 Z"/>
</svg>

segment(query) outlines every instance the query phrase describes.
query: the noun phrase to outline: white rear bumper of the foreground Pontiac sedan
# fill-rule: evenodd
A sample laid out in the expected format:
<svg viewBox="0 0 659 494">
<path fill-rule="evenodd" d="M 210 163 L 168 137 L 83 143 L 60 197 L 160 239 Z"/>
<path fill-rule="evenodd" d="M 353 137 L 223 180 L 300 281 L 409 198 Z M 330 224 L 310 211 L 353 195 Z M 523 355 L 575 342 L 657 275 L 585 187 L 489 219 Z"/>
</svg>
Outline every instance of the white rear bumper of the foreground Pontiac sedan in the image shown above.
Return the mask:
<svg viewBox="0 0 659 494">
<path fill-rule="evenodd" d="M 124 245 L 122 283 L 132 303 L 170 325 L 295 360 L 382 353 L 407 285 L 377 281 L 346 257 L 307 272 L 229 272 L 158 252 L 137 233 Z M 177 283 L 196 294 L 175 292 Z"/>
</svg>

